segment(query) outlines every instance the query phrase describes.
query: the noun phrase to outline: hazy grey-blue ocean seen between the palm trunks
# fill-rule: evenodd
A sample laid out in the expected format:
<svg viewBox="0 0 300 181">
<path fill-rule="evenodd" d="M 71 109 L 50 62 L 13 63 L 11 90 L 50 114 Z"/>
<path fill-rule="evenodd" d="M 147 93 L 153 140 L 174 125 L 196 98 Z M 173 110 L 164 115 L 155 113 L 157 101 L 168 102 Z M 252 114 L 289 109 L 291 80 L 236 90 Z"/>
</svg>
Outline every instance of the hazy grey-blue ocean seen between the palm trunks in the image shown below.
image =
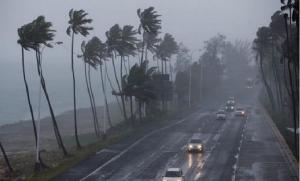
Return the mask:
<svg viewBox="0 0 300 181">
<path fill-rule="evenodd" d="M 30 87 L 30 96 L 37 117 L 39 79 L 34 59 L 26 58 L 26 75 Z M 44 62 L 43 72 L 48 93 L 55 114 L 73 109 L 72 74 L 70 60 Z M 91 70 L 92 84 L 96 104 L 103 105 L 103 96 L 99 71 Z M 89 97 L 84 78 L 82 60 L 75 60 L 77 107 L 90 107 Z M 112 79 L 114 80 L 114 79 Z M 14 61 L 0 61 L 0 125 L 30 119 L 30 112 L 26 98 L 25 85 L 22 76 L 21 57 Z M 107 85 L 108 87 L 108 85 Z M 107 89 L 110 101 L 113 97 Z M 42 92 L 43 96 L 43 92 Z M 49 116 L 49 109 L 45 98 L 41 101 L 41 117 Z"/>
</svg>

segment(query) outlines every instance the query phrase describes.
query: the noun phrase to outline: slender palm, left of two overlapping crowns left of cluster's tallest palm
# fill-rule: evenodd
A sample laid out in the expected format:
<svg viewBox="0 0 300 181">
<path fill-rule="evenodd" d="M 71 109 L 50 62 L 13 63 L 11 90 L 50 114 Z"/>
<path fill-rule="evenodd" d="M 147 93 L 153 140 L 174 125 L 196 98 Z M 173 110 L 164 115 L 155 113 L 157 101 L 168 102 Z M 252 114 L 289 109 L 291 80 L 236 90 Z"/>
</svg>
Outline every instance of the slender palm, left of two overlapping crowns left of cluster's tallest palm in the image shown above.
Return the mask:
<svg viewBox="0 0 300 181">
<path fill-rule="evenodd" d="M 127 114 L 126 114 L 126 108 L 125 108 L 125 100 L 124 100 L 124 96 L 121 94 L 122 90 L 121 90 L 121 85 L 117 76 L 117 71 L 116 71 L 116 65 L 115 65 L 115 57 L 117 55 L 117 53 L 122 52 L 122 46 L 121 46 L 121 42 L 122 42 L 122 30 L 120 28 L 120 26 L 118 24 L 115 24 L 114 26 L 112 26 L 109 31 L 107 31 L 105 33 L 106 35 L 106 45 L 107 45 L 107 53 L 108 55 L 111 56 L 111 60 L 112 60 L 112 65 L 113 65 L 113 70 L 114 70 L 114 75 L 115 75 L 115 79 L 116 79 L 116 83 L 119 89 L 119 93 L 121 95 L 121 101 L 122 101 L 122 108 L 123 108 L 123 115 L 124 115 L 124 119 L 127 121 Z M 113 91 L 114 93 L 114 91 Z M 115 93 L 114 93 L 115 94 Z"/>
</svg>

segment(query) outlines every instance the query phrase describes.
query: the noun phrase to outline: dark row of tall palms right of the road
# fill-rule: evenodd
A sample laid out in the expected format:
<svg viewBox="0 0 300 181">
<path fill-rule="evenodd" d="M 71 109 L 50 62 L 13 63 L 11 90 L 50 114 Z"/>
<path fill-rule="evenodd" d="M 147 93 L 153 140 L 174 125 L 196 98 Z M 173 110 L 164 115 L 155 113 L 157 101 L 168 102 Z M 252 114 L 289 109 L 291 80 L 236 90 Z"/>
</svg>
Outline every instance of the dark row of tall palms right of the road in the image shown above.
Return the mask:
<svg viewBox="0 0 300 181">
<path fill-rule="evenodd" d="M 253 49 L 257 53 L 260 75 L 271 110 L 281 115 L 288 110 L 290 112 L 287 114 L 292 115 L 293 148 L 298 158 L 299 1 L 281 2 L 282 11 L 273 14 L 269 26 L 258 29 Z M 285 10 L 288 10 L 287 13 Z"/>
</svg>

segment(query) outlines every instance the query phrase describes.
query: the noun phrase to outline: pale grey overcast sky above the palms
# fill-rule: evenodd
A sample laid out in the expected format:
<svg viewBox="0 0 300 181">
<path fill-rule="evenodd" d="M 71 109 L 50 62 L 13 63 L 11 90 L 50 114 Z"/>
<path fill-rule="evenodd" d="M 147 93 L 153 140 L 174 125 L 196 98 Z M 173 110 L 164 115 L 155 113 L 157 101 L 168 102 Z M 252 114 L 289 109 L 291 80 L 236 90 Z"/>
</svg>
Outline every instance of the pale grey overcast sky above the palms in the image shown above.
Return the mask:
<svg viewBox="0 0 300 181">
<path fill-rule="evenodd" d="M 224 34 L 229 40 L 252 41 L 259 26 L 268 25 L 271 15 L 280 8 L 279 0 L 1 0 L 0 61 L 18 61 L 17 28 L 44 15 L 57 30 L 55 40 L 64 42 L 64 50 L 47 52 L 55 59 L 67 58 L 70 38 L 66 35 L 68 11 L 84 9 L 94 21 L 91 35 L 104 39 L 114 25 L 137 27 L 136 10 L 154 6 L 162 15 L 162 32 L 171 33 L 178 42 L 198 49 L 203 41 Z M 90 37 L 88 37 L 90 38 Z M 76 50 L 83 39 L 77 38 Z M 62 48 L 60 48 L 62 49 Z M 55 60 L 54 60 L 55 61 Z"/>
</svg>

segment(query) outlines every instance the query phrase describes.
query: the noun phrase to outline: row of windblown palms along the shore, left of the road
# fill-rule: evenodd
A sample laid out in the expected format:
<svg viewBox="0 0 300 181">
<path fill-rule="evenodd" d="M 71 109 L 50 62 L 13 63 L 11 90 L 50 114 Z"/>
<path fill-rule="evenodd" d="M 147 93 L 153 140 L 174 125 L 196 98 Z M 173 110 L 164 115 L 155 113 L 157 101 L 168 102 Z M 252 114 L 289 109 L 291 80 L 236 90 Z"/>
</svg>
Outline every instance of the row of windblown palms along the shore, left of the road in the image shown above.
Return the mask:
<svg viewBox="0 0 300 181">
<path fill-rule="evenodd" d="M 159 60 L 161 61 L 161 74 L 167 73 L 166 62 L 171 56 L 177 52 L 177 43 L 172 35 L 165 34 L 163 39 L 158 37 L 161 29 L 160 15 L 153 7 L 137 10 L 140 23 L 137 30 L 131 25 L 120 27 L 118 24 L 113 25 L 106 33 L 106 41 L 101 41 L 98 37 L 92 37 L 89 41 L 81 43 L 81 53 L 78 58 L 82 58 L 84 63 L 84 73 L 86 88 L 88 91 L 90 105 L 93 115 L 93 124 L 95 134 L 97 136 L 104 135 L 104 131 L 100 129 L 99 119 L 97 117 L 96 102 L 92 89 L 91 70 L 100 70 L 100 82 L 102 85 L 102 94 L 105 103 L 105 116 L 108 119 L 109 126 L 112 127 L 110 109 L 107 99 L 106 80 L 108 80 L 112 94 L 115 95 L 118 105 L 122 111 L 125 121 L 130 121 L 134 125 L 135 113 L 133 111 L 133 99 L 138 102 L 139 118 L 142 119 L 142 107 L 145 108 L 150 101 L 157 98 L 153 91 L 153 85 L 149 84 L 154 74 L 159 74 Z M 74 108 L 74 136 L 77 148 L 81 148 L 78 125 L 77 125 L 77 103 L 76 103 L 76 72 L 74 70 L 74 52 L 75 35 L 86 37 L 89 35 L 93 27 L 90 26 L 92 19 L 88 18 L 88 13 L 84 10 L 69 11 L 69 26 L 66 30 L 68 36 L 71 37 L 71 72 L 73 82 L 73 108 Z M 141 40 L 138 35 L 141 35 Z M 62 44 L 62 42 L 54 42 L 55 30 L 52 29 L 52 23 L 45 20 L 44 16 L 39 16 L 32 22 L 21 26 L 18 29 L 19 40 L 22 52 L 22 71 L 25 84 L 27 102 L 30 110 L 33 132 L 36 148 L 38 149 L 38 139 L 36 117 L 32 107 L 29 86 L 26 77 L 25 51 L 33 50 L 36 58 L 36 67 L 40 85 L 46 98 L 52 124 L 58 147 L 65 156 L 68 155 L 67 149 L 63 143 L 63 139 L 57 124 L 50 96 L 47 91 L 46 81 L 43 75 L 42 54 L 45 48 L 52 48 L 54 45 Z M 157 61 L 157 67 L 149 68 L 149 52 L 154 60 Z M 130 65 L 133 57 L 139 57 L 139 63 Z M 117 89 L 107 71 L 107 62 L 110 61 L 113 66 L 114 79 Z M 118 61 L 118 62 L 116 62 Z M 119 72 L 116 70 L 116 63 L 120 64 Z M 125 70 L 125 72 L 124 72 Z M 170 67 L 171 70 L 171 67 Z M 121 101 L 119 101 L 121 99 Z M 126 103 L 130 102 L 130 118 L 127 115 Z M 120 103 L 121 102 L 121 103 Z M 37 153 L 39 151 L 37 150 Z M 36 160 L 36 168 L 40 169 L 45 166 L 38 155 Z"/>
</svg>

